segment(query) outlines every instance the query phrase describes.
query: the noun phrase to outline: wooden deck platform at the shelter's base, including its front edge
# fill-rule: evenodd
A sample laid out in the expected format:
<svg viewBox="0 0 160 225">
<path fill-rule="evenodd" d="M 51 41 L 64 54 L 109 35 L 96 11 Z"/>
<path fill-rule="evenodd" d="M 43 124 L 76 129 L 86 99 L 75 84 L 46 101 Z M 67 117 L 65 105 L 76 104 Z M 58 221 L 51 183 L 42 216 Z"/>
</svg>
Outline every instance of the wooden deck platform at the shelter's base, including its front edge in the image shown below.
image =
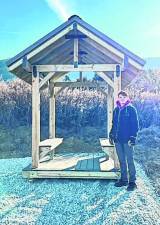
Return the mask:
<svg viewBox="0 0 160 225">
<path fill-rule="evenodd" d="M 119 178 L 113 160 L 104 152 L 57 153 L 52 160 L 39 163 L 36 169 L 29 165 L 22 173 L 25 178 Z"/>
</svg>

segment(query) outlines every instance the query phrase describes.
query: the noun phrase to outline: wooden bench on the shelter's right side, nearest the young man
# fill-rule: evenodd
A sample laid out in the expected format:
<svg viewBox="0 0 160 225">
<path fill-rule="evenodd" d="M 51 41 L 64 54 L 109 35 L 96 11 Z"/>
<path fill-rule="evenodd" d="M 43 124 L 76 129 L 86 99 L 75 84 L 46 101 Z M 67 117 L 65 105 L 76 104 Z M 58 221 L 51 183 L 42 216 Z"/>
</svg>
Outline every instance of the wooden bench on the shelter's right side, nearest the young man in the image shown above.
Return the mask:
<svg viewBox="0 0 160 225">
<path fill-rule="evenodd" d="M 119 160 L 118 160 L 118 156 L 115 150 L 114 145 L 111 145 L 109 143 L 109 139 L 108 138 L 100 138 L 100 145 L 102 147 L 102 150 L 114 161 L 114 168 L 115 169 L 119 169 Z"/>
</svg>

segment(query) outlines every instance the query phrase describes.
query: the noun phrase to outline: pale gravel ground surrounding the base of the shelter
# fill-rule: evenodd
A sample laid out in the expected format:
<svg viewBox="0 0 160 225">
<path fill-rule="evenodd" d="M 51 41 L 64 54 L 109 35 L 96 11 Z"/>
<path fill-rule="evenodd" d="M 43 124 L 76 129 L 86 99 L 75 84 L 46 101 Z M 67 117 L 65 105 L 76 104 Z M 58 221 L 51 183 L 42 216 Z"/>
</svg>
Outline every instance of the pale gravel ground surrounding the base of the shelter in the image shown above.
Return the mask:
<svg viewBox="0 0 160 225">
<path fill-rule="evenodd" d="M 24 179 L 31 158 L 0 160 L 0 225 L 160 225 L 160 202 L 136 164 L 138 189 L 114 181 Z"/>
</svg>

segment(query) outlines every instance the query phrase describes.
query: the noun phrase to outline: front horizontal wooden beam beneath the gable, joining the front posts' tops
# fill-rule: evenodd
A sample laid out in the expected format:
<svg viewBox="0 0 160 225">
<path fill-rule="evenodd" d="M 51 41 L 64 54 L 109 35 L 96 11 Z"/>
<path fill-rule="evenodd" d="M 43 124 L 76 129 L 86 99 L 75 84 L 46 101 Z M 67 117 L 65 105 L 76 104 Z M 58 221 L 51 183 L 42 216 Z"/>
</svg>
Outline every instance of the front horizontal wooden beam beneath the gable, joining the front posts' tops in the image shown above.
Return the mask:
<svg viewBox="0 0 160 225">
<path fill-rule="evenodd" d="M 104 72 L 104 71 L 116 71 L 116 64 L 89 64 L 78 65 L 78 68 L 74 68 L 73 65 L 37 65 L 39 72 Z"/>
</svg>

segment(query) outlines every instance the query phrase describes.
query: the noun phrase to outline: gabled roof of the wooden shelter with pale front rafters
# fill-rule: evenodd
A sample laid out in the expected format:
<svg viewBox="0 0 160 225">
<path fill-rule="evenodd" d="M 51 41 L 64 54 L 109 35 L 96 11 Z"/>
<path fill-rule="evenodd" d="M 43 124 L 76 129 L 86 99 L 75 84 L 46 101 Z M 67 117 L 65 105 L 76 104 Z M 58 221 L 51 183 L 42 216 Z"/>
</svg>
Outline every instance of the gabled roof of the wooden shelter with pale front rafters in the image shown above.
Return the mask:
<svg viewBox="0 0 160 225">
<path fill-rule="evenodd" d="M 123 63 L 127 66 L 124 72 L 126 76 L 123 76 L 126 84 L 130 82 L 144 66 L 145 61 L 142 58 L 113 41 L 111 38 L 83 21 L 79 16 L 73 15 L 58 28 L 54 29 L 15 57 L 9 59 L 7 61 L 9 70 L 31 84 L 31 74 L 27 73 L 22 68 L 24 57 L 27 57 L 32 65 L 73 64 L 72 36 L 74 35 L 75 26 L 80 37 L 79 52 L 81 63 Z M 61 73 L 60 75 L 63 74 L 64 73 Z M 57 75 L 60 76 L 58 73 Z"/>
</svg>

